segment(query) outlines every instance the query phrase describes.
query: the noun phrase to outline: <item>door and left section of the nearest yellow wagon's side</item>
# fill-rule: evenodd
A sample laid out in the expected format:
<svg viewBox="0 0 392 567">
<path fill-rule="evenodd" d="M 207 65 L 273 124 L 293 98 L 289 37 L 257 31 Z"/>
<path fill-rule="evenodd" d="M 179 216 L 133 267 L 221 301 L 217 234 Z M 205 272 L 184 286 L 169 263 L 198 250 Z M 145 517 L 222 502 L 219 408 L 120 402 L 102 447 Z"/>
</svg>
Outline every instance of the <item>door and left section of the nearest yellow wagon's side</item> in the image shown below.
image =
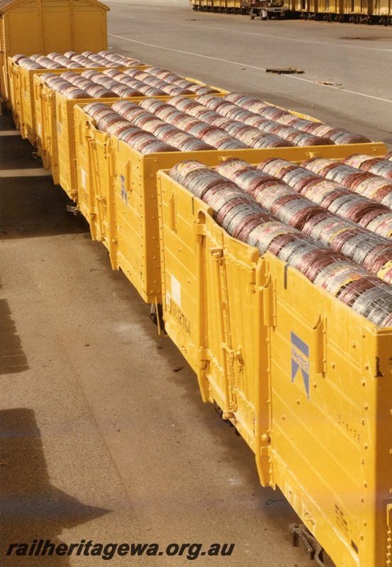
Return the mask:
<svg viewBox="0 0 392 567">
<path fill-rule="evenodd" d="M 165 329 L 196 371 L 203 400 L 235 425 L 268 485 L 267 327 L 259 317 L 265 262 L 162 172 L 158 184 Z"/>
</svg>

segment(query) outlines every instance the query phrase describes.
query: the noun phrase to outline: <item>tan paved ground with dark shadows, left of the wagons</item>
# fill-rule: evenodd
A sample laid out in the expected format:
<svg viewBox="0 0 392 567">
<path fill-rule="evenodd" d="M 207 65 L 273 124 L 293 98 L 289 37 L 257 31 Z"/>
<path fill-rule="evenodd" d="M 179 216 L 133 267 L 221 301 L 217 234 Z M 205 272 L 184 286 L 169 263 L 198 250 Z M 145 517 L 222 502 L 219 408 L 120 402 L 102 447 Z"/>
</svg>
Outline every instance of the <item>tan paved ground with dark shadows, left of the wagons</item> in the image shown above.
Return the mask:
<svg viewBox="0 0 392 567">
<path fill-rule="evenodd" d="M 252 451 L 201 402 L 149 306 L 12 128 L 0 116 L 1 566 L 100 565 L 5 555 L 92 539 L 235 544 L 231 556 L 113 566 L 310 567 L 286 539 L 289 504 L 259 485 Z"/>
</svg>

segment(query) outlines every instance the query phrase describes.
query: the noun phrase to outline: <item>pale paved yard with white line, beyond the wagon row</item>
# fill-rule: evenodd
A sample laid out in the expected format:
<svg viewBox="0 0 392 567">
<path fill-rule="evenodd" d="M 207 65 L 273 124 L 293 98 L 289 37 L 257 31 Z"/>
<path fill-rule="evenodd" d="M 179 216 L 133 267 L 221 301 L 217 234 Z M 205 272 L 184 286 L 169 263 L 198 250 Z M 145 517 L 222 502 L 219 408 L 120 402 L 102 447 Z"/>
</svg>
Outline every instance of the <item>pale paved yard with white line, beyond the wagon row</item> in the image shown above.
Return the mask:
<svg viewBox="0 0 392 567">
<path fill-rule="evenodd" d="M 349 128 L 392 149 L 390 26 L 251 21 L 196 12 L 188 0 L 106 4 L 114 51 Z M 265 72 L 276 67 L 304 73 Z"/>
</svg>

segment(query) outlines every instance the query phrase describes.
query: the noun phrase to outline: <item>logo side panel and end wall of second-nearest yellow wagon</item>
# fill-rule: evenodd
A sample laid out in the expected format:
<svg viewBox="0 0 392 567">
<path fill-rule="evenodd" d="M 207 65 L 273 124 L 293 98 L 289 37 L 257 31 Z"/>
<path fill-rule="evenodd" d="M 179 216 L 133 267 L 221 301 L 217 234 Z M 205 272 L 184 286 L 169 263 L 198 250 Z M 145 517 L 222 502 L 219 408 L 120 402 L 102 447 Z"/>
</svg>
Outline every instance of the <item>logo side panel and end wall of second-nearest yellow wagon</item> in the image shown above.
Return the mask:
<svg viewBox="0 0 392 567">
<path fill-rule="evenodd" d="M 366 146 L 369 147 L 369 150 L 370 146 L 374 148 L 376 155 L 385 155 L 386 149 L 383 144 Z M 170 169 L 184 159 L 198 159 L 206 165 L 215 166 L 220 159 L 229 156 L 239 157 L 254 164 L 267 157 L 282 157 L 301 162 L 313 152 L 310 147 L 287 147 L 265 150 L 173 152 L 143 156 L 132 150 L 125 142 L 118 142 L 113 145 L 113 148 L 116 154 L 118 264 L 138 289 L 142 298 L 150 303 L 156 300 L 159 303 L 162 301 L 159 254 L 152 250 L 147 252 L 147 247 L 152 246 L 155 250 L 155 242 L 158 240 L 156 174 L 159 169 Z M 318 151 L 325 157 L 334 155 L 337 157 L 350 155 L 357 150 L 354 150 L 353 146 L 318 146 Z M 124 191 L 132 196 L 126 203 Z M 133 198 L 137 202 L 134 203 Z M 142 213 L 136 213 L 138 210 Z M 151 222 L 152 218 L 153 222 Z M 139 242 L 138 246 L 136 242 Z"/>
</svg>

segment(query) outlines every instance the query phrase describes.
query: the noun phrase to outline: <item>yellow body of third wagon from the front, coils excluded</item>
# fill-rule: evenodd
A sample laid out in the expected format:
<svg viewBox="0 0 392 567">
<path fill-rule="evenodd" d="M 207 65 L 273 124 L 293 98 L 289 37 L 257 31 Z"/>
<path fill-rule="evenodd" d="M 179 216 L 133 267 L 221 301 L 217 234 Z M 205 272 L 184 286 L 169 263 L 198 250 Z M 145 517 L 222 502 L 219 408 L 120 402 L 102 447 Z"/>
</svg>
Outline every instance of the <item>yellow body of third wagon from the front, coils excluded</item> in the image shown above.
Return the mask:
<svg viewBox="0 0 392 567">
<path fill-rule="evenodd" d="M 146 67 L 142 67 L 145 69 Z M 120 68 L 121 69 L 121 68 Z M 85 70 L 85 69 L 84 69 Z M 102 71 L 102 68 L 99 69 Z M 207 86 L 196 79 L 188 79 L 196 84 Z M 227 91 L 218 89 L 220 95 Z M 85 106 L 91 102 L 112 104 L 118 100 L 140 102 L 145 96 L 116 99 L 67 99 L 57 91 L 52 91 L 40 75 L 33 77 L 33 100 L 37 116 L 35 116 L 34 130 L 38 132 L 38 154 L 43 157 L 47 169 L 52 169 L 53 181 L 60 184 L 67 195 L 77 200 L 77 172 L 76 172 L 76 146 L 74 128 L 74 107 L 79 104 Z M 185 95 L 194 98 L 194 95 Z M 170 96 L 155 96 L 155 99 L 168 101 Z"/>
</svg>

